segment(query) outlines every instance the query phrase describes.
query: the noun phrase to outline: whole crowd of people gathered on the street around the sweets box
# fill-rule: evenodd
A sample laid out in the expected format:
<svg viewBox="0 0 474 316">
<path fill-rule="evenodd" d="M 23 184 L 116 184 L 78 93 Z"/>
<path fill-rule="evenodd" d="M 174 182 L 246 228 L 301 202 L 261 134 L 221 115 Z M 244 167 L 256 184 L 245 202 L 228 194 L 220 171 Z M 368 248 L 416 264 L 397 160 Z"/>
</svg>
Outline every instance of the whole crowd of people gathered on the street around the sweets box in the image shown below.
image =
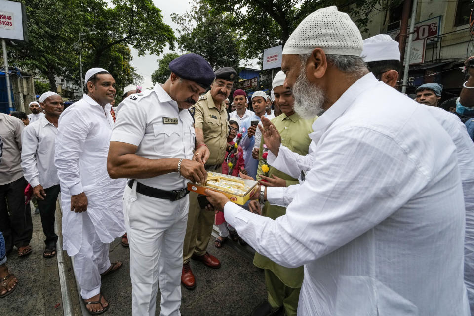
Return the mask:
<svg viewBox="0 0 474 316">
<path fill-rule="evenodd" d="M 198 281 L 190 261 L 221 267 L 207 252 L 214 224 L 217 249 L 256 250 L 267 299 L 254 316 L 470 315 L 474 68 L 452 113 L 438 83 L 398 92 L 398 69 L 397 42 L 362 40 L 332 6 L 291 34 L 271 95 L 233 91 L 234 69 L 188 53 L 166 82 L 125 87 L 117 107 L 114 78 L 92 68 L 66 110 L 49 91 L 28 116 L 0 113 L 0 297 L 18 286 L 6 254 L 32 252 L 30 197 L 43 256 L 56 255 L 61 192 L 63 248 L 93 315 L 109 307 L 101 279 L 122 266 L 109 259 L 118 237 L 132 314 L 155 315 L 159 288 L 160 315 L 181 315 L 181 285 Z M 258 190 L 243 206 L 189 192 L 208 171 Z"/>
</svg>

